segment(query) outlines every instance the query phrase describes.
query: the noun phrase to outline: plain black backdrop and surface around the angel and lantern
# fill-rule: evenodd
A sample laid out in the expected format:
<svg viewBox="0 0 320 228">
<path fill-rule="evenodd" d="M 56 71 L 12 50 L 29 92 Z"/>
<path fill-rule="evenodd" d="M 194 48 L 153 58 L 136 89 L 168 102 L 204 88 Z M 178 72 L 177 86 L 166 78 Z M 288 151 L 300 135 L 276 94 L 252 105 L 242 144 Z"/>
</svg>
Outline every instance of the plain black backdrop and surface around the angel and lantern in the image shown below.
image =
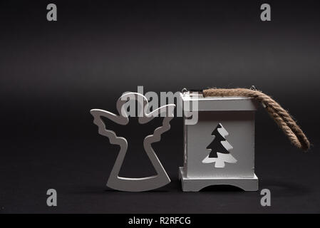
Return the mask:
<svg viewBox="0 0 320 228">
<path fill-rule="evenodd" d="M 319 1 L 1 1 L 0 212 L 320 212 Z M 46 5 L 58 21 L 46 20 Z M 150 192 L 105 187 L 118 147 L 98 135 L 91 108 L 115 111 L 121 93 L 255 85 L 290 111 L 313 147 L 304 153 L 261 108 L 259 192 L 181 192 L 182 119 L 154 145 L 172 182 Z M 152 173 L 132 121 L 121 173 Z M 129 141 L 130 143 L 130 141 Z M 140 162 L 140 163 L 138 163 Z M 142 165 L 141 165 L 142 164 Z M 145 167 L 145 168 L 142 168 Z M 58 207 L 46 206 L 46 190 Z"/>
</svg>

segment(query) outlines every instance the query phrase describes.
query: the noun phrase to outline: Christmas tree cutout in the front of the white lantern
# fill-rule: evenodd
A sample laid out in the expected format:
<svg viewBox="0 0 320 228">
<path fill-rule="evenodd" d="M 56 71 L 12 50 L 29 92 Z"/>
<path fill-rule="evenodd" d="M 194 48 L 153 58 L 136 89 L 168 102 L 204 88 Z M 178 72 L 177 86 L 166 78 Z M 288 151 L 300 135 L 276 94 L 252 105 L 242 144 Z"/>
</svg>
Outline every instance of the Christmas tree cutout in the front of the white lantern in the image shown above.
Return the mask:
<svg viewBox="0 0 320 228">
<path fill-rule="evenodd" d="M 223 168 L 225 162 L 236 163 L 237 160 L 229 152 L 233 147 L 225 138 L 229 133 L 224 129 L 221 123 L 217 125 L 217 128 L 213 130 L 211 135 L 215 136 L 215 138 L 210 145 L 207 146 L 207 149 L 210 150 L 210 154 L 202 160 L 202 163 L 215 162 L 216 168 Z"/>
</svg>

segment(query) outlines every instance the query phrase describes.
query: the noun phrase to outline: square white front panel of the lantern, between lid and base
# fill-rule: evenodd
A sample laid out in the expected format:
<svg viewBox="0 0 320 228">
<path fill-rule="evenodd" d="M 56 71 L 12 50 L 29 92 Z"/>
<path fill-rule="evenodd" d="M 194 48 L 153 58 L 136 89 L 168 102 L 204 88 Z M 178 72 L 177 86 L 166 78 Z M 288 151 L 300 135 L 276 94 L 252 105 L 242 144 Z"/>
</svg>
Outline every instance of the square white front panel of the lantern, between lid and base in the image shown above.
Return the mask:
<svg viewBox="0 0 320 228">
<path fill-rule="evenodd" d="M 187 177 L 254 177 L 254 111 L 202 111 L 185 140 Z"/>
</svg>

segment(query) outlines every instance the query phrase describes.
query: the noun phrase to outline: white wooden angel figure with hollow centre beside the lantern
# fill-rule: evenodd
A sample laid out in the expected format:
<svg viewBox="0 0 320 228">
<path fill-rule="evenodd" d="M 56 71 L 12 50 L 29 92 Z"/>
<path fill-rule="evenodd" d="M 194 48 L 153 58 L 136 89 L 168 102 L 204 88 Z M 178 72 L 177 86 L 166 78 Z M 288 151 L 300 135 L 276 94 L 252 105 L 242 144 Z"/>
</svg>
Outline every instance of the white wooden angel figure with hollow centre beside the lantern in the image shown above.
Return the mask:
<svg viewBox="0 0 320 228">
<path fill-rule="evenodd" d="M 118 137 L 118 135 L 116 135 L 112 130 L 108 130 L 108 126 L 105 126 L 101 117 L 108 118 L 120 125 L 128 124 L 128 117 L 130 116 L 130 114 L 128 113 L 128 107 L 126 105 L 130 101 L 138 102 L 140 103 L 140 107 L 143 107 L 140 109 L 140 115 L 138 118 L 138 122 L 140 124 L 148 123 L 156 116 L 165 116 L 162 120 L 162 126 L 156 128 L 153 132 L 153 135 L 148 135 L 143 141 L 145 152 L 147 153 L 150 161 L 155 167 L 157 175 L 142 178 L 119 177 L 120 167 L 123 164 L 125 153 L 128 149 L 128 142 L 125 138 Z M 117 110 L 119 115 L 115 115 L 114 113 L 110 113 L 106 110 L 100 109 L 93 109 L 90 111 L 91 115 L 93 115 L 94 118 L 93 123 L 98 126 L 98 133 L 100 135 L 108 137 L 111 144 L 120 145 L 118 157 L 115 160 L 115 165 L 113 166 L 113 170 L 111 171 L 110 177 L 107 182 L 108 187 L 120 191 L 142 192 L 153 190 L 170 183 L 170 178 L 168 177 L 167 172 L 165 172 L 165 169 L 162 167 L 160 160 L 155 154 L 152 143 L 160 141 L 162 133 L 165 133 L 170 129 L 170 120 L 172 120 L 173 118 L 174 108 L 174 104 L 164 105 L 157 110 L 153 110 L 153 112 L 148 113 L 148 99 L 145 98 L 144 95 L 140 93 L 125 93 L 118 99 L 117 102 Z"/>
</svg>

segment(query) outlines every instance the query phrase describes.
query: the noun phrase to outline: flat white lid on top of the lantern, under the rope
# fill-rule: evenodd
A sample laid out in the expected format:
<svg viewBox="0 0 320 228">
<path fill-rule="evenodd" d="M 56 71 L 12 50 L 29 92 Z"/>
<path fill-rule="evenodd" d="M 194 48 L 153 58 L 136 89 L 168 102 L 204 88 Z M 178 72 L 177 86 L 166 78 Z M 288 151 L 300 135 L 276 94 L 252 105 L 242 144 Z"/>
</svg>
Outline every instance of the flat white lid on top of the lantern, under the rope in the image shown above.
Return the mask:
<svg viewBox="0 0 320 228">
<path fill-rule="evenodd" d="M 244 111 L 257 110 L 258 102 L 247 97 L 204 97 L 202 93 L 180 93 L 178 99 L 185 111 Z"/>
</svg>

